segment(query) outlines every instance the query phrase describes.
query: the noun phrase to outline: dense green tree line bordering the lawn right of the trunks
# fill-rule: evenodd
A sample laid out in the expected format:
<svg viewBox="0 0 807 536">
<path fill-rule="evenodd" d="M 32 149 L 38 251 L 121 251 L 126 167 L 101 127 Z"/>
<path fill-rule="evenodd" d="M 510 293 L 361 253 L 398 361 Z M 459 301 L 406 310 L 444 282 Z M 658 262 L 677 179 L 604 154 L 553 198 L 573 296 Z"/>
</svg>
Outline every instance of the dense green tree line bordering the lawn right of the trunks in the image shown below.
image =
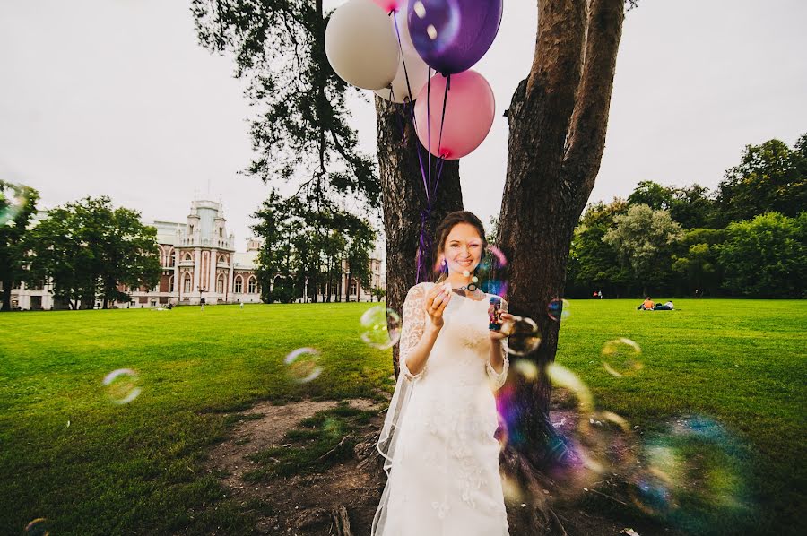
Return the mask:
<svg viewBox="0 0 807 536">
<path fill-rule="evenodd" d="M 805 203 L 807 134 L 747 145 L 714 193 L 640 182 L 627 200 L 586 208 L 566 294 L 802 298 Z"/>
</svg>

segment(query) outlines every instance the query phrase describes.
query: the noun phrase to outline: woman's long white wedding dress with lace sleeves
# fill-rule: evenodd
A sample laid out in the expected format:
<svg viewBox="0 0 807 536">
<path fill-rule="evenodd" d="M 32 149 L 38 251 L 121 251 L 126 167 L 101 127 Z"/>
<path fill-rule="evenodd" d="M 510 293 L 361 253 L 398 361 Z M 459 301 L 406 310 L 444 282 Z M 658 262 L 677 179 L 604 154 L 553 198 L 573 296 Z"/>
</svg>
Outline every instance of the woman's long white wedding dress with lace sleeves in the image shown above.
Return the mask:
<svg viewBox="0 0 807 536">
<path fill-rule="evenodd" d="M 452 295 L 426 367 L 413 376 L 406 358 L 421 340 L 433 286 L 415 285 L 404 301 L 401 373 L 378 440 L 389 478 L 372 534 L 507 535 L 493 391 L 504 384 L 509 362 L 502 350 L 501 373 L 490 366 L 491 295 Z"/>
</svg>

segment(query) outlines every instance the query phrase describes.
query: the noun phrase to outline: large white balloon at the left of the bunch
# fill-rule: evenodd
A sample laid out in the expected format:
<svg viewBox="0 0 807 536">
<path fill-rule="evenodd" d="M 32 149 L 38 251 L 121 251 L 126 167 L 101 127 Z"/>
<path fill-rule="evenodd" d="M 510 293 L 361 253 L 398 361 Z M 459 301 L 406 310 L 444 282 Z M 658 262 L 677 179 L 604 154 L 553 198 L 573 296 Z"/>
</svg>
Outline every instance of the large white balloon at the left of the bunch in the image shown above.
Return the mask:
<svg viewBox="0 0 807 536">
<path fill-rule="evenodd" d="M 370 0 L 350 0 L 331 15 L 325 55 L 343 81 L 378 90 L 395 78 L 400 53 L 384 10 Z"/>
</svg>

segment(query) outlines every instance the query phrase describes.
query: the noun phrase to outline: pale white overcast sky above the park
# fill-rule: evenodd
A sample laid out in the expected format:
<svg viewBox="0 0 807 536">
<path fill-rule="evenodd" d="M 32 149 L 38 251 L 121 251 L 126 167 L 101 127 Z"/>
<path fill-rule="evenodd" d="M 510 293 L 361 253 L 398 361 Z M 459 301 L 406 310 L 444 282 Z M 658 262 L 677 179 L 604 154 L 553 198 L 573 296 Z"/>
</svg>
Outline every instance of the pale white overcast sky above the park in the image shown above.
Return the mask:
<svg viewBox="0 0 807 536">
<path fill-rule="evenodd" d="M 531 64 L 536 17 L 534 1 L 505 0 L 474 67 L 496 120 L 460 170 L 464 206 L 485 222 L 499 213 L 502 113 Z M 592 201 L 640 180 L 714 188 L 745 144 L 807 132 L 804 21 L 803 0 L 641 0 L 625 21 Z M 197 44 L 187 1 L 0 0 L 0 177 L 37 188 L 46 208 L 110 195 L 147 221 L 184 221 L 195 195 L 221 198 L 243 250 L 266 187 L 238 173 L 250 109 L 233 66 Z M 351 108 L 374 151 L 373 108 Z"/>
</svg>

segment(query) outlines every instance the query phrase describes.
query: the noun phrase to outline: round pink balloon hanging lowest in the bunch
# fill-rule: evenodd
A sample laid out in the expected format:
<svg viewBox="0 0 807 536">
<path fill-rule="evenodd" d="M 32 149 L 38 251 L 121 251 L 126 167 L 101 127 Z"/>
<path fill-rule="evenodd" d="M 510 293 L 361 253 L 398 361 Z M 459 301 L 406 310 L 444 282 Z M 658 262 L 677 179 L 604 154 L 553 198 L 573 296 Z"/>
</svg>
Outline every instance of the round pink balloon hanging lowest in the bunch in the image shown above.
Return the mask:
<svg viewBox="0 0 807 536">
<path fill-rule="evenodd" d="M 447 81 L 442 74 L 435 74 L 431 78 L 429 128 L 426 117 L 428 84 L 423 86 L 415 101 L 415 119 L 418 122 L 418 139 L 424 147 L 429 148 L 431 154 L 446 160 L 457 160 L 479 147 L 488 135 L 493 125 L 496 102 L 493 90 L 482 74 L 471 70 L 452 74 L 443 136 L 440 139 L 440 118 L 443 115 Z"/>
</svg>

